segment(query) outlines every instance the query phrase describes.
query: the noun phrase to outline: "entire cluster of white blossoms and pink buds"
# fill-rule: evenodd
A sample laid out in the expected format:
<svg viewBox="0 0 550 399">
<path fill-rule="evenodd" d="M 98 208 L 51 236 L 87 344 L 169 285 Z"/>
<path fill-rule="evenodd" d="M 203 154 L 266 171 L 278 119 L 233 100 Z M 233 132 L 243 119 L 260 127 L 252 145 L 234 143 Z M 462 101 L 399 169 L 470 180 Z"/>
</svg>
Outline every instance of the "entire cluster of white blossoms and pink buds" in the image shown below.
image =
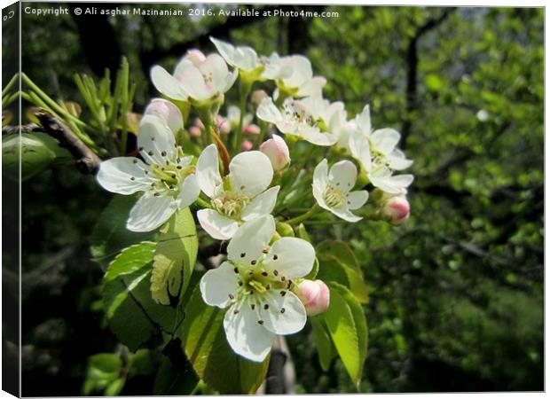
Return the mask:
<svg viewBox="0 0 550 399">
<path fill-rule="evenodd" d="M 323 98 L 326 79 L 313 75 L 309 59 L 211 41 L 217 53 L 188 51 L 173 74 L 153 66 L 164 98 L 145 109 L 138 154 L 102 162 L 97 179 L 110 192 L 141 192 L 130 231 L 153 231 L 191 206 L 211 239 L 229 241 L 225 260 L 201 278 L 200 293 L 226 309 L 232 349 L 263 361 L 275 335 L 302 330 L 308 316 L 329 307 L 326 284 L 306 278 L 314 247 L 294 237 L 292 226 L 314 215 L 326 219 L 324 210 L 343 223 L 405 222 L 413 176 L 396 172 L 412 161 L 397 149 L 395 129 L 372 128 L 369 106 L 349 120 L 342 102 Z M 236 82 L 240 106 L 227 105 L 225 93 Z M 253 91 L 255 84 L 271 84 L 271 96 Z M 184 120 L 192 123 L 185 127 Z M 295 167 L 299 142 L 312 153 L 325 149 L 325 158 L 314 168 Z M 293 215 L 285 202 L 291 194 L 301 205 L 310 199 L 305 214 Z"/>
</svg>

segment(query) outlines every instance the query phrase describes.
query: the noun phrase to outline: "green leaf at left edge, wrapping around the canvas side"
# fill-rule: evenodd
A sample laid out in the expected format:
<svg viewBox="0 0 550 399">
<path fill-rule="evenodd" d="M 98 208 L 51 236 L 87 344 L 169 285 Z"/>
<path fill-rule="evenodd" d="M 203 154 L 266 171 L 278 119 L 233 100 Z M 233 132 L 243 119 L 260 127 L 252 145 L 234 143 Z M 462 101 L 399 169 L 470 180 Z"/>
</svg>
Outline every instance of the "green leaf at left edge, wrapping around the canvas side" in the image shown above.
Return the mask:
<svg viewBox="0 0 550 399">
<path fill-rule="evenodd" d="M 20 148 L 21 146 L 21 148 Z M 21 151 L 20 151 L 21 150 Z M 45 133 L 23 133 L 2 137 L 2 169 L 5 176 L 21 181 L 42 173 L 56 160 L 70 160 L 71 154 Z"/>
</svg>

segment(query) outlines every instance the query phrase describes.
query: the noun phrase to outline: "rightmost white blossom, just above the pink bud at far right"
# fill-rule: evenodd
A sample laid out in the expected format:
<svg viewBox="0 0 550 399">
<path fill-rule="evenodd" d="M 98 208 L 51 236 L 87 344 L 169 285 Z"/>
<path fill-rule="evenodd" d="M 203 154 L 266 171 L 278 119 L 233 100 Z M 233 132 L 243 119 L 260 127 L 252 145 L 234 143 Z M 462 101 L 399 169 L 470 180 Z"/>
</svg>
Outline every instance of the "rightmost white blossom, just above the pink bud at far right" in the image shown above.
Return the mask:
<svg viewBox="0 0 550 399">
<path fill-rule="evenodd" d="M 394 170 L 403 170 L 413 164 L 396 148 L 401 137 L 397 130 L 373 130 L 369 106 L 357 116 L 355 125 L 357 130 L 350 134 L 350 152 L 361 162 L 371 183 L 395 194 L 413 183 L 413 175 L 393 176 Z"/>
</svg>

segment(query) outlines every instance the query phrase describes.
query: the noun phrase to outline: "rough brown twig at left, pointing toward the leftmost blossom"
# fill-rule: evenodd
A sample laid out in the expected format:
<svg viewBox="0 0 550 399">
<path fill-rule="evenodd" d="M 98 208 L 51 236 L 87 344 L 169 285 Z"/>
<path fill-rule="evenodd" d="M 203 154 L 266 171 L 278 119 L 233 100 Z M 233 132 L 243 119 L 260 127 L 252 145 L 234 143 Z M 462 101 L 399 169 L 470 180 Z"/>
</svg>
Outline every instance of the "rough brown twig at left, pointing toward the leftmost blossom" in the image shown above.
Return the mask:
<svg viewBox="0 0 550 399">
<path fill-rule="evenodd" d="M 71 129 L 58 121 L 53 115 L 43 109 L 35 113 L 44 133 L 59 141 L 59 146 L 68 150 L 76 160 L 76 168 L 85 174 L 93 174 L 98 170 L 101 160 L 90 148 L 75 136 Z"/>
</svg>

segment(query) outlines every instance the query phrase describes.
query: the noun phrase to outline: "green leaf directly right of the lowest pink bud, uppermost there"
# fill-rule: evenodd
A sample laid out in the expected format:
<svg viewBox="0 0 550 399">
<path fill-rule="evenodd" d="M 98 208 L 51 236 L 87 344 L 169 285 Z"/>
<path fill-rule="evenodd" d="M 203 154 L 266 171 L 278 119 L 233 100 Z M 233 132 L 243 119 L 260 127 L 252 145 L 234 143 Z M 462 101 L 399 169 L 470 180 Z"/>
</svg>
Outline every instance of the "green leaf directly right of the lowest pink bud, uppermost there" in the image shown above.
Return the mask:
<svg viewBox="0 0 550 399">
<path fill-rule="evenodd" d="M 363 271 L 350 246 L 342 241 L 323 241 L 316 253 L 320 263 L 318 278 L 347 286 L 361 303 L 368 302 Z"/>
</svg>

